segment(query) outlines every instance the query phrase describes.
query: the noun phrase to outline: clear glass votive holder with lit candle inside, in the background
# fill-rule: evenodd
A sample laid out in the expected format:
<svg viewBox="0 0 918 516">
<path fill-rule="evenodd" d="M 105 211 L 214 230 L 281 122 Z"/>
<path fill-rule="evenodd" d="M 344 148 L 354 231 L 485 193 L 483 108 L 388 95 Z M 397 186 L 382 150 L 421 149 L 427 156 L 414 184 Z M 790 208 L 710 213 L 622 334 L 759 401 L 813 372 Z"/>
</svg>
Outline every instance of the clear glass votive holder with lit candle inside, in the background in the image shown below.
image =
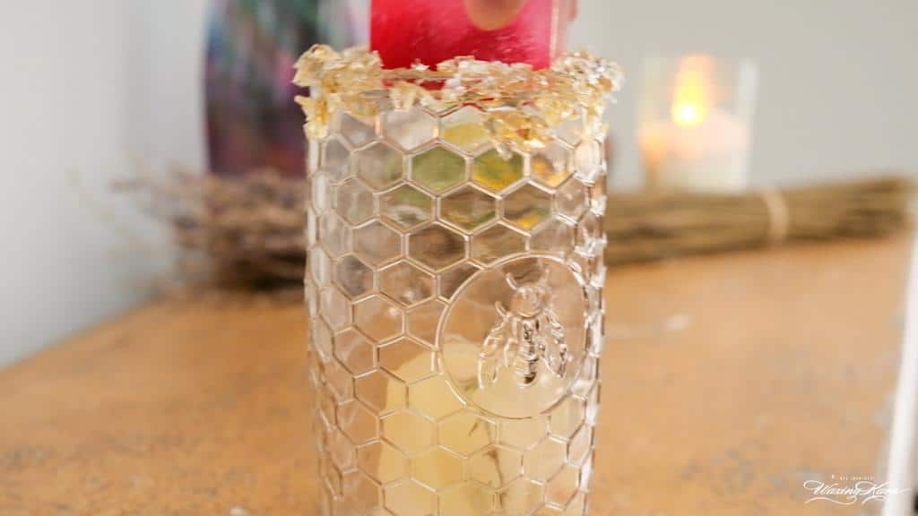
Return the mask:
<svg viewBox="0 0 918 516">
<path fill-rule="evenodd" d="M 709 55 L 644 62 L 638 140 L 652 190 L 735 192 L 749 183 L 756 65 Z"/>
</svg>

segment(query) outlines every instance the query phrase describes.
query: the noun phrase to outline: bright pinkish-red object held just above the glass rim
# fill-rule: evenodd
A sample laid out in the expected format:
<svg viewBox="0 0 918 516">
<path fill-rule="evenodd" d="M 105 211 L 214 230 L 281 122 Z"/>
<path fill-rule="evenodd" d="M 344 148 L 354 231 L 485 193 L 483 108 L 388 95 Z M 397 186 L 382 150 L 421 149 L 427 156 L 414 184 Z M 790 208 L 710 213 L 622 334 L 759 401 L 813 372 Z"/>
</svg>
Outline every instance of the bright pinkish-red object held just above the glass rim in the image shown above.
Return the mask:
<svg viewBox="0 0 918 516">
<path fill-rule="evenodd" d="M 458 56 L 548 66 L 565 50 L 572 0 L 527 0 L 509 24 L 478 28 L 465 0 L 373 0 L 370 47 L 386 68 Z"/>
</svg>

